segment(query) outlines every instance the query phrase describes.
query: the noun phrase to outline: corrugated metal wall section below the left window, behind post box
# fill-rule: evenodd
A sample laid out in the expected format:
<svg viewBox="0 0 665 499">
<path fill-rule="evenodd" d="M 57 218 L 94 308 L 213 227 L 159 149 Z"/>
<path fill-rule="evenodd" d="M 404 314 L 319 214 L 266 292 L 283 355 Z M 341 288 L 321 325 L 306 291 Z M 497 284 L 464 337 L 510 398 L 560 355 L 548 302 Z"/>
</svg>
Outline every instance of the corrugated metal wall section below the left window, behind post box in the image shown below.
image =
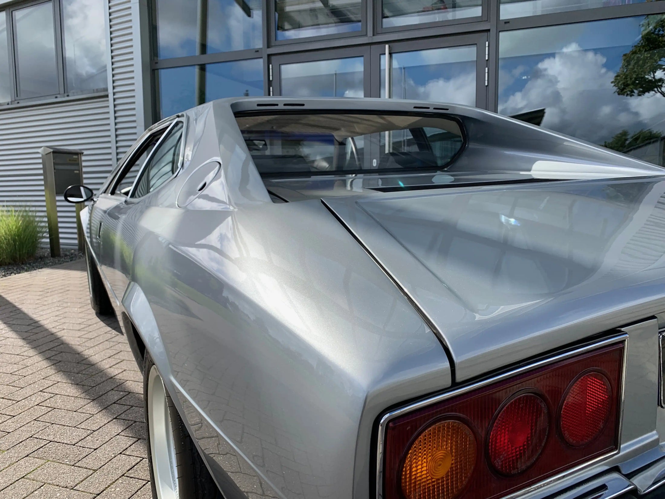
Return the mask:
<svg viewBox="0 0 665 499">
<path fill-rule="evenodd" d="M 30 206 L 46 220 L 42 146 L 84 151 L 84 181 L 98 188 L 115 164 L 108 96 L 0 110 L 0 205 Z M 75 248 L 74 206 L 58 198 L 61 246 Z M 48 237 L 43 244 L 48 246 Z"/>
</svg>

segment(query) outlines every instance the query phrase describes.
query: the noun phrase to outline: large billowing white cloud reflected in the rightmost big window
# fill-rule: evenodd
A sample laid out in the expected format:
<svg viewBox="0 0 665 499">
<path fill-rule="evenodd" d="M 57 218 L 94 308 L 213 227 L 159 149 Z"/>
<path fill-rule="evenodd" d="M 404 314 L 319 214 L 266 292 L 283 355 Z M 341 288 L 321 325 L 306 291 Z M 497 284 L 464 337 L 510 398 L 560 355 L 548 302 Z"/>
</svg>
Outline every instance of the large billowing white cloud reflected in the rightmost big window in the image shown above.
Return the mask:
<svg viewBox="0 0 665 499">
<path fill-rule="evenodd" d="M 570 43 L 538 63 L 524 88 L 499 103 L 499 112 L 510 115 L 544 107 L 542 126 L 596 144 L 624 128 L 665 130 L 665 98 L 617 95 L 611 83 L 614 73 L 605 63 L 602 54 Z"/>
</svg>

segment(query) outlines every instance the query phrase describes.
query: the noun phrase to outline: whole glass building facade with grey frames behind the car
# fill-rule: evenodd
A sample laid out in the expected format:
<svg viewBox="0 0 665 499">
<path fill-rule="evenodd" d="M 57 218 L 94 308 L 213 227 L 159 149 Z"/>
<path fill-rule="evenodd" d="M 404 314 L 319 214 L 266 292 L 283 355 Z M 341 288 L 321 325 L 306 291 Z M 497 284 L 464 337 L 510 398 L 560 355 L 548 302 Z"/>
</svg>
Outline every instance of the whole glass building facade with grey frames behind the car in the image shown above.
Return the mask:
<svg viewBox="0 0 665 499">
<path fill-rule="evenodd" d="M 227 96 L 412 98 L 665 164 L 662 0 L 152 0 L 150 16 L 154 120 Z"/>
</svg>

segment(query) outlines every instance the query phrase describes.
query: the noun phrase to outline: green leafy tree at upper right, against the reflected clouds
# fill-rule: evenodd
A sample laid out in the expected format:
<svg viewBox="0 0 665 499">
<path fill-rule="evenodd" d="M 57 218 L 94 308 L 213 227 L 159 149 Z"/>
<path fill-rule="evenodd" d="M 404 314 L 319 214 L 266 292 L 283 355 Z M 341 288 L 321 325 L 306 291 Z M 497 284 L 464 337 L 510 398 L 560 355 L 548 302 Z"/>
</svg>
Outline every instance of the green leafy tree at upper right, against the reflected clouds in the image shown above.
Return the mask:
<svg viewBox="0 0 665 499">
<path fill-rule="evenodd" d="M 617 94 L 627 97 L 653 92 L 665 97 L 665 15 L 642 21 L 642 37 L 623 55 L 612 84 Z"/>
</svg>

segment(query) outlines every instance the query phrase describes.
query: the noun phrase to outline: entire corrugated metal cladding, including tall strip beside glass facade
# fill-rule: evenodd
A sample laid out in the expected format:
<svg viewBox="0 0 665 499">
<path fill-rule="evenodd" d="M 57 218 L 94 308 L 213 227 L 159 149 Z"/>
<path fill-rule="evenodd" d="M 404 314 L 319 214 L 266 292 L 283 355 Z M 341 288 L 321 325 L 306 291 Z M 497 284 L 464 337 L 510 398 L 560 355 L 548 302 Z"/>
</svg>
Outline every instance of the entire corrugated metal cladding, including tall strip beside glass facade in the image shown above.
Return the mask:
<svg viewBox="0 0 665 499">
<path fill-rule="evenodd" d="M 136 0 L 106 0 L 109 46 L 108 94 L 41 102 L 0 110 L 0 206 L 34 208 L 44 218 L 44 183 L 39 148 L 80 149 L 86 185 L 99 188 L 138 136 Z M 76 247 L 74 207 L 58 196 L 60 240 Z M 48 236 L 43 240 L 48 246 Z"/>
</svg>

